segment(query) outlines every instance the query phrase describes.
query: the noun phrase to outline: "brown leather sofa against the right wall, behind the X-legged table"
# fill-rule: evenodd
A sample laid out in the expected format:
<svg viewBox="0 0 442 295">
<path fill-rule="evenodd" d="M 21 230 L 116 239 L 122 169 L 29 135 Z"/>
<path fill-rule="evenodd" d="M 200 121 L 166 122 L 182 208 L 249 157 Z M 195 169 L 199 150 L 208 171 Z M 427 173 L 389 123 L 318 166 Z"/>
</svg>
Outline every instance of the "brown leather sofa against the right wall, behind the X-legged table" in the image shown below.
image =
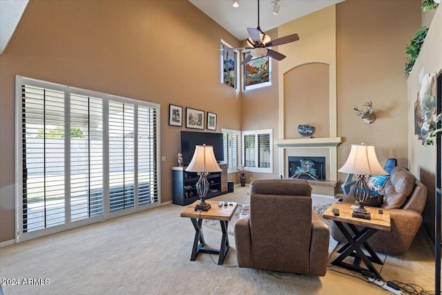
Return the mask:
<svg viewBox="0 0 442 295">
<path fill-rule="evenodd" d="M 427 187 L 403 166 L 396 166 L 381 190 L 381 195 L 383 211 L 390 211 L 392 231 L 377 231 L 367 242 L 376 252 L 403 255 L 421 227 Z M 351 203 L 355 201 L 352 192 L 343 200 Z M 330 222 L 330 230 L 335 240 L 346 241 L 334 222 Z"/>
</svg>

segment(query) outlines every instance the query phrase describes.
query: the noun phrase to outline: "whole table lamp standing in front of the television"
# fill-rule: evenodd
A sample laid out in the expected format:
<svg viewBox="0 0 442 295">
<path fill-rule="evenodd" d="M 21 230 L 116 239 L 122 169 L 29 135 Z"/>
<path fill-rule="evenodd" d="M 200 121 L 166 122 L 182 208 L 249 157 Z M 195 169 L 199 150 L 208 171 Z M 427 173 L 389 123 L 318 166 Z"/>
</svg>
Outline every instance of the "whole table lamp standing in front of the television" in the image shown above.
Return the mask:
<svg viewBox="0 0 442 295">
<path fill-rule="evenodd" d="M 213 146 L 206 146 L 206 144 L 195 146 L 195 153 L 193 153 L 192 160 L 189 166 L 187 166 L 186 171 L 197 172 L 200 176 L 196 183 L 196 192 L 200 196 L 200 202 L 195 206 L 195 211 L 209 211 L 210 203 L 206 202 L 206 195 L 209 191 L 207 175 L 209 175 L 209 172 L 222 171 L 213 154 Z"/>
</svg>

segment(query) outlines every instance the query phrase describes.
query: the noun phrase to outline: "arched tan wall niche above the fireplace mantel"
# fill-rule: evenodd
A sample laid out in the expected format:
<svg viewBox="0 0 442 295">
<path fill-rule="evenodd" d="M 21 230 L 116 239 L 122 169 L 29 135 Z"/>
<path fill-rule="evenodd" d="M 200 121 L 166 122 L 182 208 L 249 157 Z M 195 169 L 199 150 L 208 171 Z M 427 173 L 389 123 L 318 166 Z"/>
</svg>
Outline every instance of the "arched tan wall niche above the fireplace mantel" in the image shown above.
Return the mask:
<svg viewBox="0 0 442 295">
<path fill-rule="evenodd" d="M 315 127 L 312 137 L 330 137 L 330 66 L 312 62 L 284 74 L 284 138 L 300 138 L 299 124 Z"/>
</svg>

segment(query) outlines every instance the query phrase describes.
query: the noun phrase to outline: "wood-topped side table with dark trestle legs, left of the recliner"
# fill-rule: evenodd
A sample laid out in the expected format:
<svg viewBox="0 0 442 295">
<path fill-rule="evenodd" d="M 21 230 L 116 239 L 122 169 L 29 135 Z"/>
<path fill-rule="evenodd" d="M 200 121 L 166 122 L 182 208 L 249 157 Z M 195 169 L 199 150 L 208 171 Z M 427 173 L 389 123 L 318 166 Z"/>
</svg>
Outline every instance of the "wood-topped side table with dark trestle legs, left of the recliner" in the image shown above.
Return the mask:
<svg viewBox="0 0 442 295">
<path fill-rule="evenodd" d="M 211 202 L 211 209 L 209 211 L 195 211 L 195 205 L 198 204 L 200 200 L 193 202 L 186 209 L 181 212 L 181 217 L 191 218 L 193 227 L 195 228 L 195 239 L 193 240 L 193 248 L 191 254 L 191 261 L 195 261 L 196 256 L 200 253 L 209 253 L 219 255 L 218 264 L 222 265 L 224 262 L 224 257 L 229 251 L 229 236 L 227 235 L 227 227 L 229 221 L 232 219 L 233 213 L 235 213 L 238 203 L 229 202 L 227 206 L 218 207 L 218 202 Z M 206 248 L 204 245 L 204 236 L 202 234 L 202 220 L 212 219 L 220 220 L 222 239 L 220 249 Z"/>
</svg>

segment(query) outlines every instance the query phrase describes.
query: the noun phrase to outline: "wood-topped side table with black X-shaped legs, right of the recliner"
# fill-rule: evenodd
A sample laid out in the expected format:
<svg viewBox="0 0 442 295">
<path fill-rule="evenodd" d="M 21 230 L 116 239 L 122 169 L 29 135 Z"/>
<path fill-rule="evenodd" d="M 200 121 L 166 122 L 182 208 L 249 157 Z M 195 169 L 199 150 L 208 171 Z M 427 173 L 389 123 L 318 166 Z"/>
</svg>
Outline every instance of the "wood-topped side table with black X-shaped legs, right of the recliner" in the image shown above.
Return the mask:
<svg viewBox="0 0 442 295">
<path fill-rule="evenodd" d="M 338 265 L 359 273 L 367 271 L 372 272 L 376 278 L 382 280 L 381 274 L 379 274 L 372 263 L 382 265 L 383 262 L 377 256 L 367 240 L 378 230 L 391 231 L 390 212 L 388 210 L 383 210 L 383 213 L 381 214 L 378 210 L 382 208 L 365 207 L 365 209 L 372 214 L 372 219 L 354 218 L 352 217 L 352 206 L 355 207 L 356 205 L 336 202 L 323 213 L 323 218 L 333 220 L 347 239 L 345 245 L 338 250 L 340 256 L 333 260 L 332 265 Z M 333 208 L 339 209 L 339 216 L 334 216 L 332 211 Z M 347 230 L 343 223 L 347 223 L 349 228 L 352 229 L 353 234 Z M 356 225 L 362 226 L 363 229 L 358 230 Z M 369 255 L 365 255 L 362 248 L 365 248 Z M 353 264 L 343 262 L 348 256 L 354 257 Z M 361 260 L 367 268 L 361 267 Z"/>
</svg>

